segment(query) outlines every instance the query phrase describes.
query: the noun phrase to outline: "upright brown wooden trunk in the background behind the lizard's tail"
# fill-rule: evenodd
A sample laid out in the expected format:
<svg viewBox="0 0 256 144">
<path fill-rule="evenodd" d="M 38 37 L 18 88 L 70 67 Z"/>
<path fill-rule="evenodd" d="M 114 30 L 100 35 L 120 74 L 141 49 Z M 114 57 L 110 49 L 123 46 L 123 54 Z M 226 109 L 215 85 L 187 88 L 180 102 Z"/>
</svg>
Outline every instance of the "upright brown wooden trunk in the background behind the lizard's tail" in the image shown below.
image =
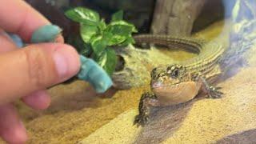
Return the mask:
<svg viewBox="0 0 256 144">
<path fill-rule="evenodd" d="M 153 34 L 187 36 L 206 0 L 157 0 L 151 26 Z"/>
</svg>

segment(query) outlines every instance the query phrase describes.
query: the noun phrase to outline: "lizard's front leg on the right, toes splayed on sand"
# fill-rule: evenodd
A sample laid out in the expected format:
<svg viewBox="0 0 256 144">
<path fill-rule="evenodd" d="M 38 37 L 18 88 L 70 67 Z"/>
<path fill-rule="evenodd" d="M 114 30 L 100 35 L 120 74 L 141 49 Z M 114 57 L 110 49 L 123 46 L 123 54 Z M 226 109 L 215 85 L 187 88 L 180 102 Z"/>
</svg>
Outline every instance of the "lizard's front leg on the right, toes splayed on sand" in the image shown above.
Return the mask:
<svg viewBox="0 0 256 144">
<path fill-rule="evenodd" d="M 221 87 L 214 87 L 211 86 L 205 78 L 200 78 L 200 81 L 202 82 L 202 90 L 206 92 L 208 98 L 221 98 L 222 92 L 220 89 Z"/>
</svg>

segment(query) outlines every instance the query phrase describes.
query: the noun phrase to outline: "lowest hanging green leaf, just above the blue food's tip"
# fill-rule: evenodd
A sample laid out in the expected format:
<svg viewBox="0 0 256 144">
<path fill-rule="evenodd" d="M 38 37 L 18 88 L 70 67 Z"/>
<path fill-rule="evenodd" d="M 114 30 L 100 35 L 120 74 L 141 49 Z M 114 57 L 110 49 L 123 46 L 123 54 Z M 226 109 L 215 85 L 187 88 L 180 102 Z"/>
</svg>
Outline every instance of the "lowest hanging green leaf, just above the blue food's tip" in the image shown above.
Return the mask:
<svg viewBox="0 0 256 144">
<path fill-rule="evenodd" d="M 96 62 L 99 66 L 102 66 L 106 73 L 111 75 L 114 73 L 115 66 L 118 62 L 115 51 L 110 48 L 106 48 L 102 51 L 102 54 L 96 58 Z"/>
</svg>

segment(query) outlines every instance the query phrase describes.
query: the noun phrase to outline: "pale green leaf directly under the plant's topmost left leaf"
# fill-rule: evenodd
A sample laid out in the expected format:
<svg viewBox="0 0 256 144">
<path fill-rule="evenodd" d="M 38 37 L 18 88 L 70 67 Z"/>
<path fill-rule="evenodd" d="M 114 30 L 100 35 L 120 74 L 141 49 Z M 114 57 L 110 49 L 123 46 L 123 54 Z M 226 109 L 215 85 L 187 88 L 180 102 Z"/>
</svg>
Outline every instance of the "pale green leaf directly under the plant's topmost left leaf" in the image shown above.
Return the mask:
<svg viewBox="0 0 256 144">
<path fill-rule="evenodd" d="M 82 40 L 86 43 L 90 42 L 90 39 L 98 33 L 98 26 L 81 24 L 80 34 Z"/>
</svg>

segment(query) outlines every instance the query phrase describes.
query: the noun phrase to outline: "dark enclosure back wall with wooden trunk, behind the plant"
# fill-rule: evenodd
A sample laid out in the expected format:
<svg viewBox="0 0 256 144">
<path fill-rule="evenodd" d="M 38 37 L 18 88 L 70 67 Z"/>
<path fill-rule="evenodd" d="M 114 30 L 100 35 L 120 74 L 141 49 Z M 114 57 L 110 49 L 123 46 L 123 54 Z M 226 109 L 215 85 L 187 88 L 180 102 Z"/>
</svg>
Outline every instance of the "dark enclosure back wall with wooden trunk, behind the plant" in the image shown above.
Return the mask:
<svg viewBox="0 0 256 144">
<path fill-rule="evenodd" d="M 125 19 L 133 22 L 140 33 L 186 36 L 224 18 L 222 0 L 54 0 L 54 4 L 50 0 L 26 1 L 51 22 L 62 26 L 64 34 L 74 30 L 73 22 L 62 12 L 69 6 L 97 10 L 106 21 L 115 11 L 124 10 Z"/>
</svg>

